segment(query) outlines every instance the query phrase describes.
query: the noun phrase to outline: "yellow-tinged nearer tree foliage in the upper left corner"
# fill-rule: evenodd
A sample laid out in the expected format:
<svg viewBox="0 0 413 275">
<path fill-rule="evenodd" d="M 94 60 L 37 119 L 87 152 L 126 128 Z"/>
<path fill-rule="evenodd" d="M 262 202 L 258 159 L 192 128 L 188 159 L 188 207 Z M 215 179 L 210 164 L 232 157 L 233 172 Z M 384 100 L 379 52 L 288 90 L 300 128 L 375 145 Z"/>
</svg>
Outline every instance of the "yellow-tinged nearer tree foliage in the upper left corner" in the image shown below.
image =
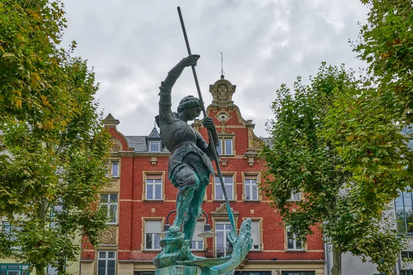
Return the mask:
<svg viewBox="0 0 413 275">
<path fill-rule="evenodd" d="M 1 1 L 1 124 L 17 119 L 51 125 L 61 118 L 59 102 L 67 97 L 58 48 L 63 14 L 59 1 Z"/>
</svg>

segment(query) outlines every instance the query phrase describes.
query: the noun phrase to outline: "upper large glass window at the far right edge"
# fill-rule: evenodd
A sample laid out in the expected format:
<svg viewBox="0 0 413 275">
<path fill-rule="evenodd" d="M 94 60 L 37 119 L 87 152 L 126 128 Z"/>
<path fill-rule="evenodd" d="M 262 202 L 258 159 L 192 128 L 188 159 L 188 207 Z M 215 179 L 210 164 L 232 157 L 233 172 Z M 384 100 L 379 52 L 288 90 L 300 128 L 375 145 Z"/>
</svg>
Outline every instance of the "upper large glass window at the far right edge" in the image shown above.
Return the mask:
<svg viewBox="0 0 413 275">
<path fill-rule="evenodd" d="M 412 193 L 402 192 L 396 199 L 397 230 L 400 233 L 413 234 Z"/>
</svg>

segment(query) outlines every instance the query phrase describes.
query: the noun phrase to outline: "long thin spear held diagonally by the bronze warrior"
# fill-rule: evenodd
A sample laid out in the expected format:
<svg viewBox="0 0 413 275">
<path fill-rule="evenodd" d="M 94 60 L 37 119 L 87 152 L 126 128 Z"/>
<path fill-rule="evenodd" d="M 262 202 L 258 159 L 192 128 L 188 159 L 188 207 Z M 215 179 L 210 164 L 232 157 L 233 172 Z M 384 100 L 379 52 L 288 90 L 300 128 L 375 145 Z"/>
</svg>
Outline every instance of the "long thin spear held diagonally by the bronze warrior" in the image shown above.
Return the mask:
<svg viewBox="0 0 413 275">
<path fill-rule="evenodd" d="M 178 7 L 177 9 L 178 9 L 178 14 L 179 14 L 179 20 L 180 20 L 181 27 L 182 27 L 182 32 L 184 33 L 185 44 L 187 44 L 188 54 L 191 55 L 191 48 L 189 47 L 189 41 L 188 41 L 187 31 L 185 30 L 185 25 L 184 25 L 184 19 L 182 17 L 182 12 L 180 10 L 180 7 Z M 196 75 L 195 66 L 192 66 L 192 74 L 193 74 L 193 79 L 195 80 L 196 89 L 198 91 L 198 97 L 200 98 L 202 114 L 204 115 L 204 117 L 207 117 L 207 111 L 205 111 L 204 100 L 202 100 L 200 83 L 198 83 L 198 76 Z M 212 133 L 211 133 L 211 131 L 209 131 L 209 129 L 208 129 L 208 137 L 209 137 L 209 143 L 211 144 L 211 147 L 215 148 Z M 220 181 L 221 181 L 222 193 L 224 194 L 224 199 L 225 199 L 225 203 L 226 203 L 226 210 L 228 211 L 229 221 L 231 222 L 231 227 L 232 227 L 234 236 L 237 236 L 237 230 L 235 228 L 234 216 L 233 216 L 233 213 L 231 211 L 231 206 L 229 206 L 228 195 L 226 195 L 224 179 L 222 178 L 220 162 L 218 162 L 217 151 L 216 150 L 212 150 L 212 151 L 213 151 L 213 159 L 215 160 L 215 166 L 217 167 L 218 177 L 220 177 Z"/>
</svg>

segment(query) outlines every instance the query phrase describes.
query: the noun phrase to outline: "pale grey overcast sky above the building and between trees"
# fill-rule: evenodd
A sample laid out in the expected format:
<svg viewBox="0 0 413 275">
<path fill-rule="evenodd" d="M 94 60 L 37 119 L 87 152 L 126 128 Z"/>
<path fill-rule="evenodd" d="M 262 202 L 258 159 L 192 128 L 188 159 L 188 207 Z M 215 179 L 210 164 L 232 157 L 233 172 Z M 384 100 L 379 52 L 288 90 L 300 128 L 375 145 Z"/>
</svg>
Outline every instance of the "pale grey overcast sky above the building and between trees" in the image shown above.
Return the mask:
<svg viewBox="0 0 413 275">
<path fill-rule="evenodd" d="M 268 136 L 264 123 L 282 83 L 308 80 L 321 61 L 358 68 L 363 63 L 348 40 L 357 38 L 366 8 L 358 0 L 63 0 L 68 28 L 63 46 L 75 40 L 74 54 L 94 67 L 96 98 L 105 116 L 120 120 L 125 135 L 149 135 L 158 111 L 158 87 L 187 56 L 176 7 L 180 5 L 202 96 L 224 75 L 237 85 L 234 103 L 253 120 L 255 134 Z M 196 96 L 191 69 L 173 87 L 173 110 L 181 98 Z"/>
</svg>

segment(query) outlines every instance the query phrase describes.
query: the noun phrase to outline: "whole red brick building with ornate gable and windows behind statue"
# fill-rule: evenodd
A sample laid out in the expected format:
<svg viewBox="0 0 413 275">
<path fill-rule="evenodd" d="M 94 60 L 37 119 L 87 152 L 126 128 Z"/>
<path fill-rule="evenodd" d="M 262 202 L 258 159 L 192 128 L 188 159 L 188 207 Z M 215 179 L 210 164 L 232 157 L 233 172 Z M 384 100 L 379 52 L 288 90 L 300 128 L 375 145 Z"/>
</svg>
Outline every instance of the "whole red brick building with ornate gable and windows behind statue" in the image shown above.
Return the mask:
<svg viewBox="0 0 413 275">
<path fill-rule="evenodd" d="M 253 221 L 253 248 L 235 274 L 324 274 L 321 233 L 315 230 L 306 243 L 295 239 L 268 206 L 268 199 L 257 191 L 257 183 L 263 179 L 264 163 L 257 157 L 262 140 L 255 136 L 252 120 L 244 120 L 233 103 L 235 88 L 222 76 L 209 87 L 213 102 L 207 107 L 220 137 L 220 166 L 235 224 L 239 229 L 244 219 Z M 101 233 L 97 248 L 85 247 L 81 274 L 153 274 L 152 259 L 160 252 L 158 233 L 176 207 L 177 189 L 167 179 L 170 153 L 163 148 L 156 128 L 148 135 L 125 136 L 117 131 L 119 121 L 112 115 L 104 122 L 114 140 L 109 160 L 112 186 L 102 190 L 111 225 Z M 199 120 L 192 126 L 207 140 L 207 131 Z M 301 195 L 292 194 L 291 203 L 297 199 Z M 202 216 L 192 242 L 193 253 L 207 257 L 230 254 L 231 245 L 225 240 L 231 225 L 220 183 L 213 177 L 202 208 L 218 236 L 198 237 L 206 223 Z M 169 223 L 174 217 L 172 213 Z"/>
</svg>

